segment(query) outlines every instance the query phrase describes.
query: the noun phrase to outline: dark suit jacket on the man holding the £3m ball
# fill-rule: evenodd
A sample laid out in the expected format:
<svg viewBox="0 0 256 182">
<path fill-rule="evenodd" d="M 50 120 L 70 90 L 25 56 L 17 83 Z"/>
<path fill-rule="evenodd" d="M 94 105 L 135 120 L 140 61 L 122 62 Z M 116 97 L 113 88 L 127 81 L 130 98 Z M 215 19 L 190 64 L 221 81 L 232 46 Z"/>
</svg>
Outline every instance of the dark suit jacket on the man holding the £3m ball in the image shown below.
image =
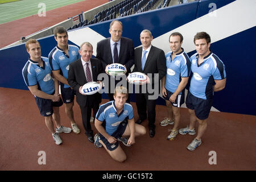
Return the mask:
<svg viewBox="0 0 256 182">
<path fill-rule="evenodd" d="M 148 53 L 146 63 L 144 65 L 144 69 L 141 68 L 141 59 L 142 59 L 142 47 L 138 47 L 134 51 L 134 69 L 133 72 L 141 72 L 152 73 L 152 79 L 150 79 L 150 83 L 154 85 L 154 73 L 159 73 L 158 84 L 160 90 L 160 82 L 166 75 L 166 56 L 164 55 L 164 51 L 157 47 L 152 46 L 150 52 Z M 154 88 L 154 87 L 153 87 Z"/>
</svg>

